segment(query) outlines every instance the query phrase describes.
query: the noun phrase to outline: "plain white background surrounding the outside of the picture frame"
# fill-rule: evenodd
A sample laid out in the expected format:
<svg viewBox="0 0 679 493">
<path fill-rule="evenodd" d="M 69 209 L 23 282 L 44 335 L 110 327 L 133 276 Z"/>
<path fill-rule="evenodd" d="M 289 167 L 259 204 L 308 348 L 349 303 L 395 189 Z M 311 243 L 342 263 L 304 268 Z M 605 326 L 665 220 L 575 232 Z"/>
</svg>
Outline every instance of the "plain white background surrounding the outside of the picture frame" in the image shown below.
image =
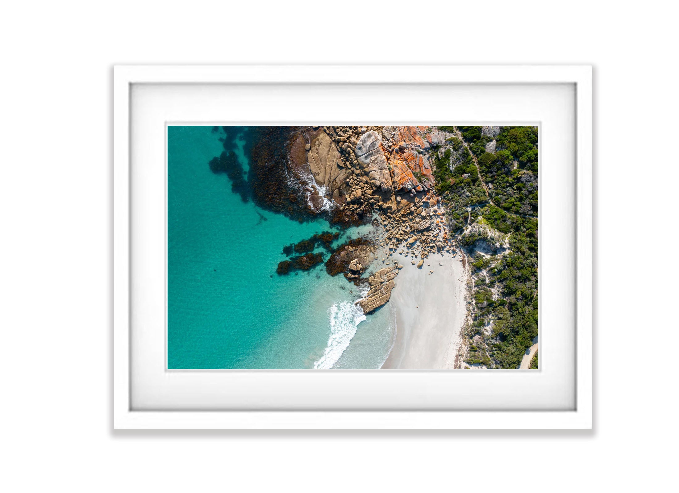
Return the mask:
<svg viewBox="0 0 679 493">
<path fill-rule="evenodd" d="M 0 489 L 664 484 L 676 464 L 676 4 L 516 3 L 3 5 Z M 595 429 L 113 433 L 111 66 L 221 62 L 593 64 Z"/>
</svg>

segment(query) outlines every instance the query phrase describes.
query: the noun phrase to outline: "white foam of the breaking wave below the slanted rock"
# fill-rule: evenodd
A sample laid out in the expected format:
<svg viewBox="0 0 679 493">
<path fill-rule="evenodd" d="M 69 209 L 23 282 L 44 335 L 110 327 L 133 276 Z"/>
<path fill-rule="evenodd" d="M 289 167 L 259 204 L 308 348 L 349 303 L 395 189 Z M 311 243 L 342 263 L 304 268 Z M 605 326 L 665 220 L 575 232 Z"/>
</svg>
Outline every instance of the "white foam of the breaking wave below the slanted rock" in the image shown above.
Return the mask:
<svg viewBox="0 0 679 493">
<path fill-rule="evenodd" d="M 316 370 L 332 368 L 337 363 L 344 350 L 349 347 L 349 342 L 356 334 L 359 323 L 365 320 L 363 309 L 350 301 L 333 304 L 328 310 L 328 316 L 330 319 L 330 338 L 323 356 L 314 363 Z"/>
</svg>

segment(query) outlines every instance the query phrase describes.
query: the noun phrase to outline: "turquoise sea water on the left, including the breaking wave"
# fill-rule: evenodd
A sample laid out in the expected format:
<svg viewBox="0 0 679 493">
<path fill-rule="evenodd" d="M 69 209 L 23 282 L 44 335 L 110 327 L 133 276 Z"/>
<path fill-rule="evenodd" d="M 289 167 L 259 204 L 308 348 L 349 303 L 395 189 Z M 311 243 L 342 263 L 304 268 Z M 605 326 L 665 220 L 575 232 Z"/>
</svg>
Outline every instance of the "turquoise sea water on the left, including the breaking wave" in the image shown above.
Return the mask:
<svg viewBox="0 0 679 493">
<path fill-rule="evenodd" d="M 168 368 L 380 368 L 394 332 L 390 304 L 357 313 L 357 288 L 323 265 L 276 274 L 283 246 L 340 230 L 242 201 L 208 166 L 223 151 L 220 136 L 168 127 Z M 246 173 L 244 139 L 233 150 Z M 333 244 L 369 228 L 341 231 Z"/>
</svg>

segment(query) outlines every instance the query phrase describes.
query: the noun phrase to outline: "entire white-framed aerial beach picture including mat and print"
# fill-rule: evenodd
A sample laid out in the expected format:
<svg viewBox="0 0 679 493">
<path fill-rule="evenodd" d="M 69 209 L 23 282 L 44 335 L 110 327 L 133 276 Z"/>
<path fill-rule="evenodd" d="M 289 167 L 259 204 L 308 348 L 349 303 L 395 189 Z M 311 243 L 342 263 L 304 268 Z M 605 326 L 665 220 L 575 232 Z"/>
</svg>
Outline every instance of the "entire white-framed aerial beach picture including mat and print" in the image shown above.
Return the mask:
<svg viewBox="0 0 679 493">
<path fill-rule="evenodd" d="M 591 428 L 590 66 L 113 78 L 115 428 Z"/>
</svg>

